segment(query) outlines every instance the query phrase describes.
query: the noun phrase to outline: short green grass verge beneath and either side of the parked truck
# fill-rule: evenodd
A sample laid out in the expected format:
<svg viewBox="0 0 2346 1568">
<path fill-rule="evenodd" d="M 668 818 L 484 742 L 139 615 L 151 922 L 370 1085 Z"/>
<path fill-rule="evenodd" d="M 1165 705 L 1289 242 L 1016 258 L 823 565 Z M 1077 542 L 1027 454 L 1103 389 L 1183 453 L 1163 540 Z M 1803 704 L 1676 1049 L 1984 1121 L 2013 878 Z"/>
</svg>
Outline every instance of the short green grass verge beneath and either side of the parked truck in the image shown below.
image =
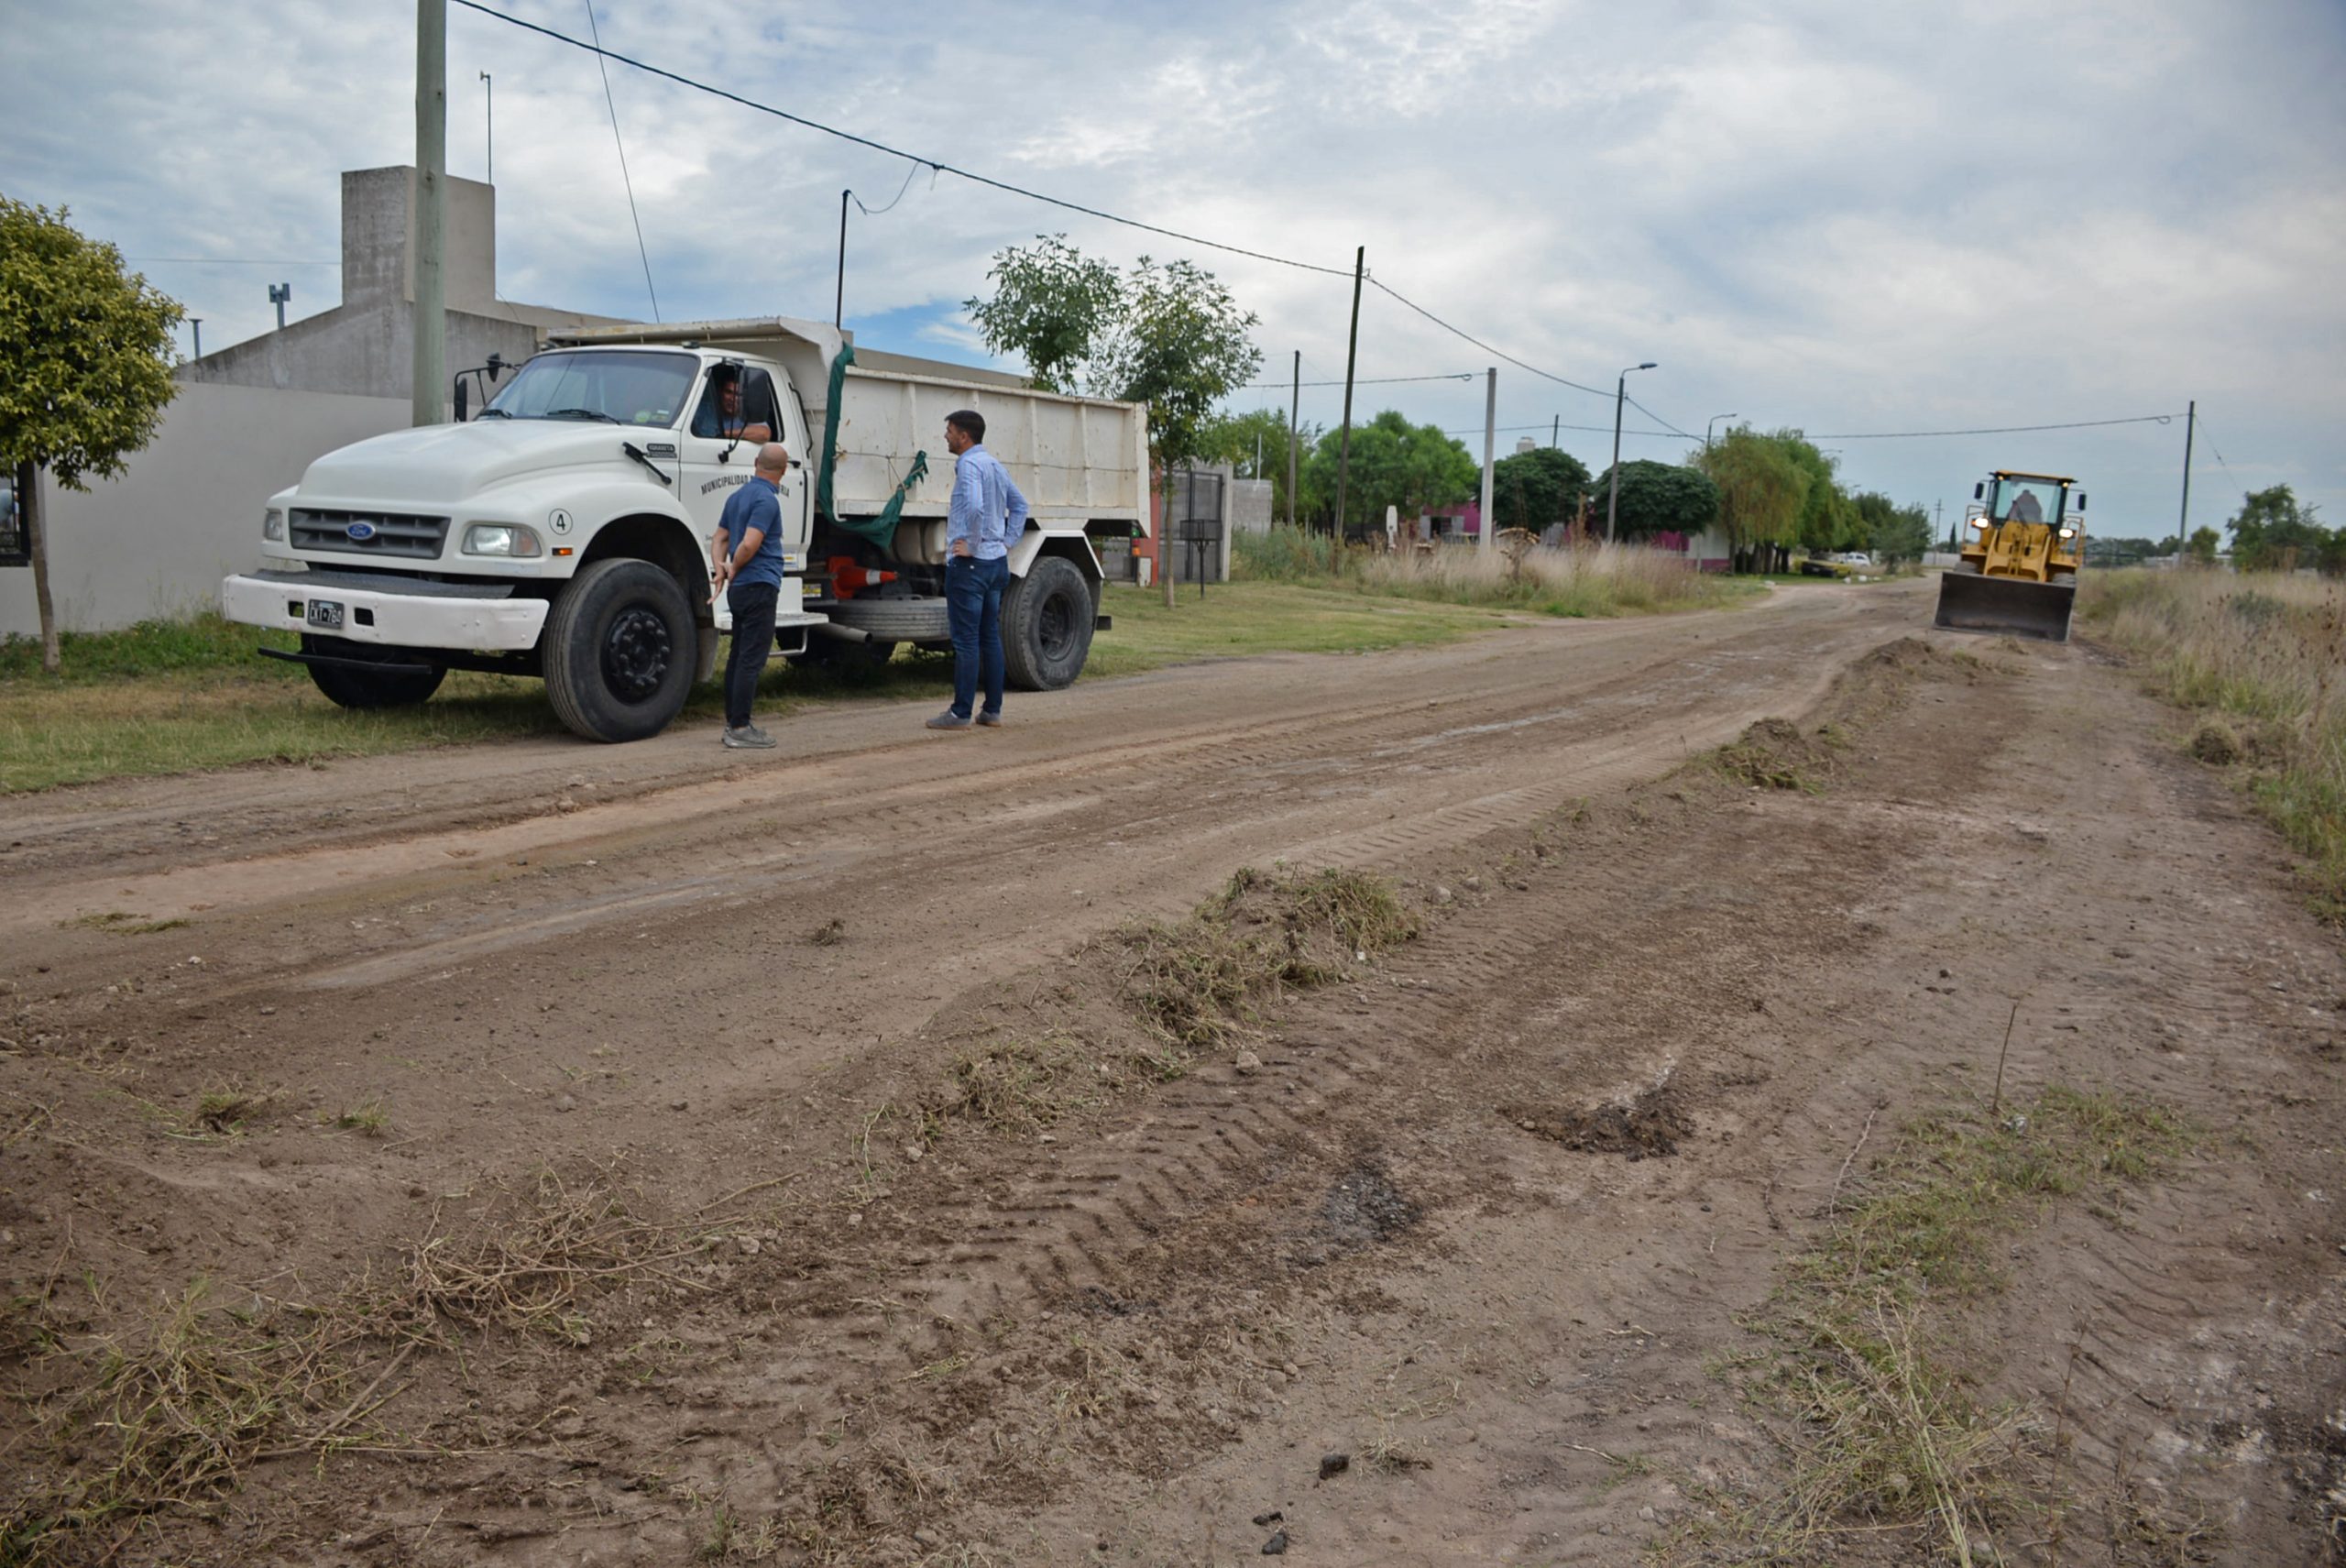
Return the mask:
<svg viewBox="0 0 2346 1568">
<path fill-rule="evenodd" d="M 1105 608 L 1117 624 L 1093 641 L 1086 681 L 1199 657 L 1445 643 L 1508 622 L 1494 610 L 1276 582 L 1211 584 L 1203 603 L 1192 587 L 1175 610 L 1161 594 L 1112 587 Z M 293 648 L 293 636 L 218 615 L 68 634 L 59 676 L 42 674 L 38 643 L 0 641 L 0 793 L 563 732 L 537 681 L 455 671 L 422 707 L 354 714 L 326 702 L 303 667 L 258 657 L 258 646 Z M 774 660 L 758 716 L 788 718 L 821 702 L 943 697 L 950 688 L 952 657 L 910 648 L 861 671 Z M 720 714 L 723 695 L 708 683 L 678 723 L 713 723 Z"/>
</svg>

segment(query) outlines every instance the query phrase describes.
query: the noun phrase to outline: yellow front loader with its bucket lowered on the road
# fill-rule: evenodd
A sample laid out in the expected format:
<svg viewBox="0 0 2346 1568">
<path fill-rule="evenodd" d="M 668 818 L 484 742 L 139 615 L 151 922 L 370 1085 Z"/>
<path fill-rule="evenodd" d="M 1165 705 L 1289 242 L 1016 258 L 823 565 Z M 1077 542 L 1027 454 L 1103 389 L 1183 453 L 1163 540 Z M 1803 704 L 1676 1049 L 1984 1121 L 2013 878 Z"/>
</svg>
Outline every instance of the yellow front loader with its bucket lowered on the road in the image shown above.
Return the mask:
<svg viewBox="0 0 2346 1568">
<path fill-rule="evenodd" d="M 1938 580 L 1940 627 L 2069 641 L 2076 568 L 2086 561 L 2086 493 L 2074 484 L 1996 469 L 1973 486 L 1964 563 Z"/>
</svg>

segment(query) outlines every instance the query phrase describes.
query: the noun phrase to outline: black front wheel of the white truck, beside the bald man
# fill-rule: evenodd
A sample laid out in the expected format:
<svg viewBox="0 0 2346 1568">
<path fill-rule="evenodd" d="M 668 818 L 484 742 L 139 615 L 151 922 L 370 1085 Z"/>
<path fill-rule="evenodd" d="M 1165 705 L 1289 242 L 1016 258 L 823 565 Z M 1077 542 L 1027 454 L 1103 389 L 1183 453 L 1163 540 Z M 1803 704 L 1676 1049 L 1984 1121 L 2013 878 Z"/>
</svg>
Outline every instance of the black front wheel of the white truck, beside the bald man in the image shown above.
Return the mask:
<svg viewBox="0 0 2346 1568">
<path fill-rule="evenodd" d="M 554 601 L 540 648 L 556 718 L 586 739 L 645 739 L 692 692 L 699 627 L 650 561 L 591 561 Z"/>
</svg>

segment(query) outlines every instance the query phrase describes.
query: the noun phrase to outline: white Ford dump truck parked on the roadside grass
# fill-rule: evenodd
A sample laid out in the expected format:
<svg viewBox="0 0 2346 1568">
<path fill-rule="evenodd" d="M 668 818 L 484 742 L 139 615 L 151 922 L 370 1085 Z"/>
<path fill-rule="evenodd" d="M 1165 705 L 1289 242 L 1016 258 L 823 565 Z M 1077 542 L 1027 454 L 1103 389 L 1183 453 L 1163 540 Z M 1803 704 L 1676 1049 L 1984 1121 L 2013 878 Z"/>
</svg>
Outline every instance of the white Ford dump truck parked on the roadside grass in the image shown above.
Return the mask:
<svg viewBox="0 0 2346 1568">
<path fill-rule="evenodd" d="M 586 329 L 511 380 L 467 371 L 455 425 L 326 453 L 270 498 L 260 570 L 228 577 L 221 610 L 298 631 L 298 653 L 263 653 L 343 707 L 425 702 L 446 671 L 488 669 L 542 676 L 589 739 L 643 739 L 732 622 L 708 596 L 708 535 L 755 446 L 725 432 L 765 425 L 793 458 L 777 648 L 868 660 L 950 646 L 943 434 L 976 408 L 1032 507 L 1002 596 L 1009 678 L 1067 685 L 1107 624 L 1093 540 L 1147 530 L 1145 406 L 868 359 L 830 326 L 767 317 Z M 465 420 L 472 385 L 493 397 Z"/>
</svg>

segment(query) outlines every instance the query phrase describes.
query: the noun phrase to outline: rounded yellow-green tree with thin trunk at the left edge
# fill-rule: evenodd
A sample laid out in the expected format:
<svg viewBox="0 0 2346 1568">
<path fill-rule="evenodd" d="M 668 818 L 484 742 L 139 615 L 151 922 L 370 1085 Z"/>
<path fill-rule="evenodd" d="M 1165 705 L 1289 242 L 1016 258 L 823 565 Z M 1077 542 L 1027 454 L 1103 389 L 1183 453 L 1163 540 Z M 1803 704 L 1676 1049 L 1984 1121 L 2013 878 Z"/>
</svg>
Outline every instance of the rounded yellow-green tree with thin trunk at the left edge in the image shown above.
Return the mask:
<svg viewBox="0 0 2346 1568">
<path fill-rule="evenodd" d="M 122 251 L 84 239 L 66 209 L 0 197 L 0 465 L 16 477 L 33 545 L 40 664 L 56 671 L 49 538 L 40 472 L 68 491 L 113 479 L 155 439 L 185 310 L 122 270 Z"/>
</svg>

